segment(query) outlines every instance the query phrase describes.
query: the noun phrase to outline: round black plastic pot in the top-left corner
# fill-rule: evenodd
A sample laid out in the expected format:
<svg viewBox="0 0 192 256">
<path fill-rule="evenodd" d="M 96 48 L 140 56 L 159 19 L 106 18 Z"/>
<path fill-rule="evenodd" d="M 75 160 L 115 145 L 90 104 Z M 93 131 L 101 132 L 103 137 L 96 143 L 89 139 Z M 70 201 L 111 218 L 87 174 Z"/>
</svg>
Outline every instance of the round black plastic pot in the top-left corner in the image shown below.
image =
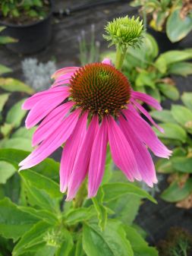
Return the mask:
<svg viewBox="0 0 192 256">
<path fill-rule="evenodd" d="M 33 24 L 15 25 L 0 21 L 0 26 L 5 26 L 3 35 L 11 36 L 18 43 L 9 43 L 7 48 L 20 54 L 32 54 L 46 48 L 52 36 L 52 1 L 50 11 L 45 19 Z"/>
</svg>

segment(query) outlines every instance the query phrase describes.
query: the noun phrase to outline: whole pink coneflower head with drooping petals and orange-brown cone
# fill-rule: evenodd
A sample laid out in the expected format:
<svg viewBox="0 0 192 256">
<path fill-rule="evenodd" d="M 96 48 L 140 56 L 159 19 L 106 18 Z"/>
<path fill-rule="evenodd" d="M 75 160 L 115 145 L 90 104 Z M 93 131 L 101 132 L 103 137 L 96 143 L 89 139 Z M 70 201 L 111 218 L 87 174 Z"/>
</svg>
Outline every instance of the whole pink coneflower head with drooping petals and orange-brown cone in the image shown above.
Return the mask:
<svg viewBox="0 0 192 256">
<path fill-rule="evenodd" d="M 127 179 L 143 180 L 153 187 L 156 171 L 147 147 L 160 157 L 168 158 L 172 152 L 141 118 L 140 112 L 162 131 L 137 100 L 160 110 L 159 103 L 134 92 L 127 77 L 109 59 L 82 68 L 62 68 L 53 77 L 51 89 L 24 103 L 23 108 L 30 109 L 27 128 L 41 123 L 33 134 L 33 146 L 37 147 L 20 163 L 20 169 L 35 166 L 65 144 L 61 192 L 67 190 L 67 200 L 71 200 L 88 175 L 88 197 L 93 197 L 102 182 L 109 142 L 115 165 Z"/>
</svg>

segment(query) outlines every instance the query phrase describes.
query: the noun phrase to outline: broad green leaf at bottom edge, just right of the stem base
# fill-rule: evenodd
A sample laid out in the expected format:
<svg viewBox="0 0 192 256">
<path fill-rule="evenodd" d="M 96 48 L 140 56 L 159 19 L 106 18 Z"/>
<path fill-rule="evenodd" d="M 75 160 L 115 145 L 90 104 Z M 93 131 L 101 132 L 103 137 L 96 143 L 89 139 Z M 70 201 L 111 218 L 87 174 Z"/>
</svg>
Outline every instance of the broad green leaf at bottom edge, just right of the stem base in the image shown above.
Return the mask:
<svg viewBox="0 0 192 256">
<path fill-rule="evenodd" d="M 104 232 L 96 223 L 84 224 L 83 249 L 87 256 L 134 256 L 124 229 L 116 220 L 109 220 Z"/>
</svg>

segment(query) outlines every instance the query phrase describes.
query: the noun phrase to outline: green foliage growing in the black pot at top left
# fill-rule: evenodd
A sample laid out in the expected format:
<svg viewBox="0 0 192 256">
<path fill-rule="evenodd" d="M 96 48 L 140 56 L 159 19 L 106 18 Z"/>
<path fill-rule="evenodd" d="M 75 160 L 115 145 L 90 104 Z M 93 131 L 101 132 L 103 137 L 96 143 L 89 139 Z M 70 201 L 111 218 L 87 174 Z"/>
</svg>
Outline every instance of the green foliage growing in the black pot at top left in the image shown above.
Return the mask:
<svg viewBox="0 0 192 256">
<path fill-rule="evenodd" d="M 46 17 L 45 6 L 47 5 L 45 0 L 2 0 L 0 9 L 3 17 L 18 18 L 23 15 L 42 19 Z"/>
</svg>

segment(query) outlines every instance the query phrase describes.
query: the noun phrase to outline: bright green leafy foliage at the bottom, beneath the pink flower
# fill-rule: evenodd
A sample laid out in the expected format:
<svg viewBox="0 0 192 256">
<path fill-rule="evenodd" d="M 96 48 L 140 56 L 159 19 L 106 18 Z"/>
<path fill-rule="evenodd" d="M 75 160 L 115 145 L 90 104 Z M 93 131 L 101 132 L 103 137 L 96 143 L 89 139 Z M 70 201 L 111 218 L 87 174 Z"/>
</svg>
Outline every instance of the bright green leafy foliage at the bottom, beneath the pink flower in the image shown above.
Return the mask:
<svg viewBox="0 0 192 256">
<path fill-rule="evenodd" d="M 3 161 L 17 169 L 27 154 L 23 150 L 2 149 L 0 163 Z M 109 166 L 112 168 L 108 156 L 106 169 L 111 175 L 102 183 L 96 198 L 85 198 L 78 207 L 65 202 L 64 209 L 61 207 L 63 195 L 58 188 L 58 163 L 46 159 L 38 166 L 21 171 L 17 204 L 8 198 L 0 201 L 1 234 L 5 239 L 17 240 L 14 248 L 10 248 L 12 255 L 136 254 L 138 250 L 127 236 L 126 228 L 131 228 L 141 198 L 155 201 L 146 191 L 120 178 L 120 172 L 112 171 Z M 2 188 L 5 189 L 7 184 Z M 121 214 L 118 206 L 122 209 Z M 140 235 L 138 237 L 141 239 Z M 154 250 L 143 241 L 143 251 L 149 256 L 156 256 Z"/>
</svg>

